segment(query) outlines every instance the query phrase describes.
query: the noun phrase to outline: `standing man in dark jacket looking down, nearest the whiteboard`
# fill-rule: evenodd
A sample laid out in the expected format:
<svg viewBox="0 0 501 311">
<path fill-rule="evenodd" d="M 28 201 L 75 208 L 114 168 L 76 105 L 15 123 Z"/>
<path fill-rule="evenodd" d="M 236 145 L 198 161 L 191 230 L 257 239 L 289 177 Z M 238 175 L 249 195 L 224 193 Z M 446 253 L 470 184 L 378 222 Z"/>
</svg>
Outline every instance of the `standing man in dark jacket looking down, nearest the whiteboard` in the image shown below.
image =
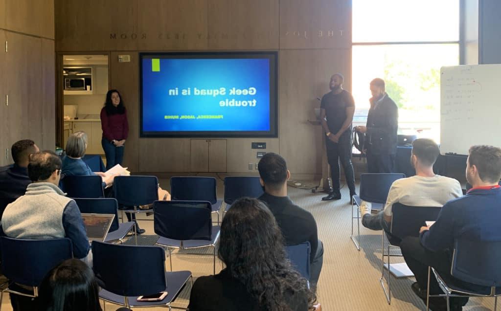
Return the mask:
<svg viewBox="0 0 501 311">
<path fill-rule="evenodd" d="M 398 108 L 385 92 L 383 79 L 372 80 L 370 88 L 367 126 L 358 126 L 357 131 L 366 134 L 369 173 L 392 173 L 397 153 Z"/>
</svg>

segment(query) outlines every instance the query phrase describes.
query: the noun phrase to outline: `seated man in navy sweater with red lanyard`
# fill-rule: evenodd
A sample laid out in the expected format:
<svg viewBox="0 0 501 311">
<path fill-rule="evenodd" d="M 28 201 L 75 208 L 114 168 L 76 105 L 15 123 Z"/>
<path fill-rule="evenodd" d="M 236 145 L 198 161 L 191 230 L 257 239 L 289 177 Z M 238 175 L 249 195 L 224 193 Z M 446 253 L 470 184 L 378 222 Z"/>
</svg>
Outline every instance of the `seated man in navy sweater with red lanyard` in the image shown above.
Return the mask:
<svg viewBox="0 0 501 311">
<path fill-rule="evenodd" d="M 501 149 L 492 146 L 472 146 L 466 161 L 466 179 L 473 186 L 465 196 L 448 201 L 437 221 L 430 227 L 421 227 L 420 237 L 406 237 L 400 248 L 405 262 L 414 272 L 416 281 L 412 290 L 426 301 L 428 266 L 438 274 L 450 278 L 459 287 L 474 291 L 482 286 L 461 281 L 450 274 L 454 240 L 501 241 Z M 430 294 L 443 294 L 431 273 Z M 451 297 L 450 310 L 461 310 L 467 297 Z M 444 297 L 430 297 L 430 308 L 446 310 Z"/>
</svg>

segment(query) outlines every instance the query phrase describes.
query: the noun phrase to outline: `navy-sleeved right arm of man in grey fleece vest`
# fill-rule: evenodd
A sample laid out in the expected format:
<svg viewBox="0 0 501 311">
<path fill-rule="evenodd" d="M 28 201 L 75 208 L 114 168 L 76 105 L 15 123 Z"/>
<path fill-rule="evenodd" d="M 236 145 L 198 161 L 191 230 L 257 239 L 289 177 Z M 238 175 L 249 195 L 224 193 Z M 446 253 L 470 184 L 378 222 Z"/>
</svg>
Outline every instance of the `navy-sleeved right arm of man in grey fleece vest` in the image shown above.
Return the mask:
<svg viewBox="0 0 501 311">
<path fill-rule="evenodd" d="M 66 237 L 73 243 L 73 256 L 79 259 L 85 258 L 90 249 L 89 239 L 80 210 L 73 200 L 64 209 L 63 227 Z"/>
</svg>

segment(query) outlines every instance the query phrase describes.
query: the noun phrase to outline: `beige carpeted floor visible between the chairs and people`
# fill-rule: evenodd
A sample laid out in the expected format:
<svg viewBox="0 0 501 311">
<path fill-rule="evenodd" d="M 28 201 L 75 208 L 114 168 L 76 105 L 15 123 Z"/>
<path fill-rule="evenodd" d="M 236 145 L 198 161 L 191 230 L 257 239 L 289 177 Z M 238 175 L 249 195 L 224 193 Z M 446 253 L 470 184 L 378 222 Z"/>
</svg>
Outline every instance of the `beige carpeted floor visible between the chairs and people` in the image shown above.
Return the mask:
<svg viewBox="0 0 501 311">
<path fill-rule="evenodd" d="M 168 178 L 161 178 L 161 186 L 168 189 Z M 222 181 L 218 179 L 218 196 L 222 197 Z M 361 226 L 360 246 L 357 251 L 349 238 L 351 230 L 351 205 L 348 204 L 349 192 L 342 189 L 340 201 L 321 201 L 324 193 L 289 187 L 289 196 L 299 206 L 310 211 L 317 220 L 319 238 L 324 243 L 324 265 L 318 283 L 318 300 L 323 310 L 424 310 L 425 305 L 412 292 L 413 278 L 391 279 L 392 299 L 388 305 L 379 283 L 381 277 L 381 232 L 371 231 Z M 154 242 L 152 216 L 141 220 L 146 233 L 139 237 L 138 244 Z M 148 236 L 149 235 L 149 236 Z M 132 241 L 130 241 L 132 242 Z M 130 243 L 129 242 L 129 243 Z M 392 257 L 392 262 L 402 262 L 401 257 Z M 196 253 L 174 251 L 172 255 L 174 270 L 190 270 L 193 277 L 212 273 L 212 252 L 199 249 Z M 216 272 L 222 263 L 216 259 Z M 169 258 L 166 258 L 169 269 Z M 124 272 L 126 268 L 124 266 Z M 386 273 L 385 273 L 386 275 Z M 186 307 L 189 299 L 190 284 L 180 293 L 175 306 Z M 2 307 L 12 309 L 8 295 Z M 463 310 L 492 310 L 493 299 L 470 298 Z M 117 306 L 106 303 L 108 310 Z M 157 309 L 157 308 L 154 308 Z M 160 310 L 160 308 L 158 308 Z"/>
</svg>

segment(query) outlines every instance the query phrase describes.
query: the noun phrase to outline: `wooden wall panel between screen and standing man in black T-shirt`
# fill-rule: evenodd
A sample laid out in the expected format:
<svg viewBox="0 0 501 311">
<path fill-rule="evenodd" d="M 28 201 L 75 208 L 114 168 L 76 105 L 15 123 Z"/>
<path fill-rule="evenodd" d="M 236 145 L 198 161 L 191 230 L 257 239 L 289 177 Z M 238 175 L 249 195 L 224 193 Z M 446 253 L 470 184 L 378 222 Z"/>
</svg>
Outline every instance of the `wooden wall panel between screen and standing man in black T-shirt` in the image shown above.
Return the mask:
<svg viewBox="0 0 501 311">
<path fill-rule="evenodd" d="M 322 130 L 307 120 L 320 107 L 316 98 L 329 92 L 331 75 L 349 82 L 350 68 L 350 49 L 280 51 L 280 152 L 292 173 L 321 173 Z"/>
</svg>

